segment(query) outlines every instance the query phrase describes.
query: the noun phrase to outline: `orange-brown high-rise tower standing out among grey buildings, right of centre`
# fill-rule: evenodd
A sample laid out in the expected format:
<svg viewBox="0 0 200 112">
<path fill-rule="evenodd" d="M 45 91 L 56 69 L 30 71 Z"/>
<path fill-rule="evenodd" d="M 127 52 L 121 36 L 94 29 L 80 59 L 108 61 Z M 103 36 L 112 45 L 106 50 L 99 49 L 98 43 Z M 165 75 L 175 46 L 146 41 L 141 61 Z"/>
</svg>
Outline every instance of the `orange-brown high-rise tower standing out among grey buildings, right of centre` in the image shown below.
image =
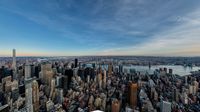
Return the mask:
<svg viewBox="0 0 200 112">
<path fill-rule="evenodd" d="M 129 103 L 131 108 L 137 107 L 137 83 L 129 84 Z"/>
</svg>

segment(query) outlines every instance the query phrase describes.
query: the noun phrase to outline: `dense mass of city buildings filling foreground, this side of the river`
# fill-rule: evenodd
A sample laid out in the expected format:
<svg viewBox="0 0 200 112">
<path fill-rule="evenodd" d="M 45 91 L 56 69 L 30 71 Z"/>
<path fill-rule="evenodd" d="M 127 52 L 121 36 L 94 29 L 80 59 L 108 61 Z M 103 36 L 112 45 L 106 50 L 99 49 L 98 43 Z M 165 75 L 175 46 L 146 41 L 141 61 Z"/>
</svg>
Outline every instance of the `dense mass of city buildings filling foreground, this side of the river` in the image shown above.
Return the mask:
<svg viewBox="0 0 200 112">
<path fill-rule="evenodd" d="M 197 112 L 198 74 L 149 74 L 113 61 L 16 61 L 13 50 L 12 62 L 0 68 L 0 111 Z"/>
</svg>

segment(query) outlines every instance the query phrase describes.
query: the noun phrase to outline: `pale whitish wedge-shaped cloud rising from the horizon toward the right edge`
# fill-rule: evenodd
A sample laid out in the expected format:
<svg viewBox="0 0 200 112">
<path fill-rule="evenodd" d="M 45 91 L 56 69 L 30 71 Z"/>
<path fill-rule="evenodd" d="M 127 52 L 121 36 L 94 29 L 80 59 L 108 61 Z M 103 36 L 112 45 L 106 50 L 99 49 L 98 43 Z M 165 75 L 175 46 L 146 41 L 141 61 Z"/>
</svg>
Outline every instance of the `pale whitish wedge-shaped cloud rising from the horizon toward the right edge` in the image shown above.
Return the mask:
<svg viewBox="0 0 200 112">
<path fill-rule="evenodd" d="M 180 25 L 137 46 L 105 50 L 106 55 L 200 56 L 200 9 L 179 17 Z"/>
</svg>

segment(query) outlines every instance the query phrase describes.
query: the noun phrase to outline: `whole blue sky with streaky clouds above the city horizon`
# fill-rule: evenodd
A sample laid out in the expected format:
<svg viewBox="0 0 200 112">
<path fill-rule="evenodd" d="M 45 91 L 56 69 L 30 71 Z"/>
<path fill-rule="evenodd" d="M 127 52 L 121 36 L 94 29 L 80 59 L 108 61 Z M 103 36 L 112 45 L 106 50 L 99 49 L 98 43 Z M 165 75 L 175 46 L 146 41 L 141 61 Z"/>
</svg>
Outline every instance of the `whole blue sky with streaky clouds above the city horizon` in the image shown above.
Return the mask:
<svg viewBox="0 0 200 112">
<path fill-rule="evenodd" d="M 200 0 L 0 0 L 0 56 L 200 56 Z"/>
</svg>

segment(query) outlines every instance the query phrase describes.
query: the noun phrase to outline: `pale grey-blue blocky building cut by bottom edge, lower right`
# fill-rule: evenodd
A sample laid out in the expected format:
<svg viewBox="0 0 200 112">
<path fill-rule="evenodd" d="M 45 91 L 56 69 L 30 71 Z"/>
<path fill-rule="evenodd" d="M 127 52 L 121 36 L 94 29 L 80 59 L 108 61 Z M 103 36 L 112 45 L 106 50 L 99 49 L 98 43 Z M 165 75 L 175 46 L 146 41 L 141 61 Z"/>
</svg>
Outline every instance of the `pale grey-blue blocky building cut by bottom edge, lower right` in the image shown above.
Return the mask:
<svg viewBox="0 0 200 112">
<path fill-rule="evenodd" d="M 161 101 L 160 112 L 171 112 L 171 103 L 167 101 Z"/>
</svg>

